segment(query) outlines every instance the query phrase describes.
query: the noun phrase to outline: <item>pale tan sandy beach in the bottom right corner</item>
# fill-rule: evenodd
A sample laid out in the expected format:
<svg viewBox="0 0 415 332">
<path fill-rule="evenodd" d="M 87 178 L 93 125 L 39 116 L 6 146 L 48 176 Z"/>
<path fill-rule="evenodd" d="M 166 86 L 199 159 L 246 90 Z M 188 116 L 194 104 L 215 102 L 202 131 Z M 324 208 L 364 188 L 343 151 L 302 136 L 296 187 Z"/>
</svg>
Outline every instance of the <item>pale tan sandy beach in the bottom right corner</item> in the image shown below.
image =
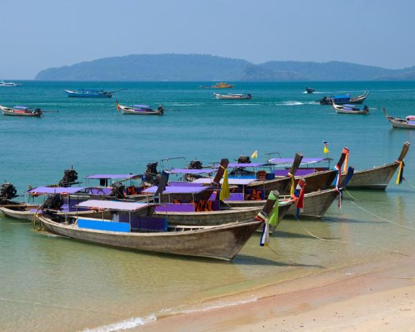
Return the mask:
<svg viewBox="0 0 415 332">
<path fill-rule="evenodd" d="M 131 331 L 415 331 L 415 259 L 344 267 L 231 295 Z"/>
</svg>

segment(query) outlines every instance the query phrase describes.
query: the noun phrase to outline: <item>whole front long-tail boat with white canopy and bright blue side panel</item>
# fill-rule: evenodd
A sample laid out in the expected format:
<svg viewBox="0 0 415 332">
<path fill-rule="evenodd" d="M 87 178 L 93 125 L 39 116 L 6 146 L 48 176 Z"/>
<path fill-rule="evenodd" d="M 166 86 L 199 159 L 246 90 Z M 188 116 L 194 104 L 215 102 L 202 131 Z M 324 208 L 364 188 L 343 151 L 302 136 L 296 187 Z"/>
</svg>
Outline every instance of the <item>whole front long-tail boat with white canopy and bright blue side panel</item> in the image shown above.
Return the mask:
<svg viewBox="0 0 415 332">
<path fill-rule="evenodd" d="M 277 195 L 276 199 L 277 199 Z M 118 201 L 84 201 L 82 208 L 110 210 L 111 219 L 96 212 L 93 217 L 57 216 L 44 213 L 34 225 L 53 234 L 118 248 L 163 254 L 233 259 L 261 223 L 273 211 L 275 199 L 268 199 L 255 219 L 245 223 L 216 226 L 168 225 L 151 214 L 154 205 Z M 145 210 L 147 216 L 136 216 Z"/>
</svg>

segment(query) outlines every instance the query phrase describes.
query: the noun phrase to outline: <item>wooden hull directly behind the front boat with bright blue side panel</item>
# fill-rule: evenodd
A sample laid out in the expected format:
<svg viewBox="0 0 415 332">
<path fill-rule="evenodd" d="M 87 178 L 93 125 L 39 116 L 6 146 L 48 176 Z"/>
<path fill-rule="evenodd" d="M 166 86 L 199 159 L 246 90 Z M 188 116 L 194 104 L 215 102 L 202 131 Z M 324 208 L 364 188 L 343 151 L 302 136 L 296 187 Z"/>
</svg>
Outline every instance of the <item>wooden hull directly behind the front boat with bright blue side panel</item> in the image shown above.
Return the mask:
<svg viewBox="0 0 415 332">
<path fill-rule="evenodd" d="M 212 212 L 156 212 L 158 217 L 166 217 L 169 225 L 222 225 L 224 223 L 247 222 L 255 218 L 264 207 L 266 201 L 261 205 L 232 208 L 230 210 Z M 279 211 L 279 219 L 288 212 L 288 205 L 282 205 Z"/>
</svg>

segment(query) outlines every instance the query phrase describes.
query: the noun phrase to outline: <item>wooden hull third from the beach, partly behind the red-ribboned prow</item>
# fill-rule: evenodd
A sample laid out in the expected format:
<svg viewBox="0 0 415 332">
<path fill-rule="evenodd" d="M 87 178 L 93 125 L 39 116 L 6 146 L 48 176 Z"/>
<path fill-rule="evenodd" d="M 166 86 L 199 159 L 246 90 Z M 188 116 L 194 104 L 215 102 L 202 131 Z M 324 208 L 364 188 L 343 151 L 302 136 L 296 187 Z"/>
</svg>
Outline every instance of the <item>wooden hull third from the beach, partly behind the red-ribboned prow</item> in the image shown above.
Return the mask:
<svg viewBox="0 0 415 332">
<path fill-rule="evenodd" d="M 311 192 L 304 195 L 304 210 L 300 212 L 300 216 L 308 216 L 313 218 L 322 218 L 331 204 L 338 196 L 338 192 L 334 189 L 320 190 L 317 192 Z M 280 199 L 289 199 L 289 196 L 280 196 Z M 227 201 L 232 207 L 243 206 L 264 206 L 266 201 Z M 280 211 L 284 205 L 280 205 Z M 295 204 L 288 205 L 288 209 L 284 213 L 284 216 L 293 216 L 295 214 Z"/>
</svg>

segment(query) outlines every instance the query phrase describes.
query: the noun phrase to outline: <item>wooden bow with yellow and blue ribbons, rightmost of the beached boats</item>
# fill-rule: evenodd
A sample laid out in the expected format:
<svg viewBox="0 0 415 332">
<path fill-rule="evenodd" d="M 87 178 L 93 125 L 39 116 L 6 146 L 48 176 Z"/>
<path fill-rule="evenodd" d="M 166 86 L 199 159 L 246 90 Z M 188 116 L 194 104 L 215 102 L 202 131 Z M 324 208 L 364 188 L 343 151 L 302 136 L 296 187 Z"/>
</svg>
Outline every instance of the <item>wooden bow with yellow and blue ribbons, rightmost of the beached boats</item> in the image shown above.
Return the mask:
<svg viewBox="0 0 415 332">
<path fill-rule="evenodd" d="M 398 159 L 393 163 L 354 172 L 347 188 L 385 190 L 396 169 L 403 167 L 403 159 L 407 155 L 409 145 L 409 142 L 403 144 Z"/>
</svg>

